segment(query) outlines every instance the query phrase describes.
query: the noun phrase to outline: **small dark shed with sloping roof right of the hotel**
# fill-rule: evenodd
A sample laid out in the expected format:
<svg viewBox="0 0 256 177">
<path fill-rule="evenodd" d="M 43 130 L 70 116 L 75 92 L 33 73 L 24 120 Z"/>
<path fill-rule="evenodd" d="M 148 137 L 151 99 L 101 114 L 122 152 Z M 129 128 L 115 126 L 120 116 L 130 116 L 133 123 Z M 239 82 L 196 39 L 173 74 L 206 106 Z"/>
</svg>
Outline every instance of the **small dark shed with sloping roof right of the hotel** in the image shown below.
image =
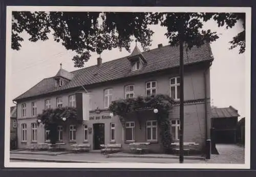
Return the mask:
<svg viewBox="0 0 256 177">
<path fill-rule="evenodd" d="M 237 143 L 238 110 L 232 106 L 211 109 L 211 127 L 216 143 Z"/>
</svg>

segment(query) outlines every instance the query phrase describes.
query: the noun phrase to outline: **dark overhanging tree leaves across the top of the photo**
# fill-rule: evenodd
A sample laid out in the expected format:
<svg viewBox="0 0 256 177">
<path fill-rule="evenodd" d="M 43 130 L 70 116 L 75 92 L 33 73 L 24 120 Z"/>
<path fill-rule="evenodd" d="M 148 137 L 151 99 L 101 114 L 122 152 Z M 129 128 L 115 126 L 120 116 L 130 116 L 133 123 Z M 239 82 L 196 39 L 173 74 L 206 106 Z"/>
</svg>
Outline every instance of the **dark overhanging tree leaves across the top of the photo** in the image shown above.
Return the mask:
<svg viewBox="0 0 256 177">
<path fill-rule="evenodd" d="M 230 49 L 240 47 L 245 51 L 245 13 L 151 13 L 151 12 L 13 12 L 12 49 L 19 50 L 24 40 L 20 33 L 27 32 L 29 40 L 47 40 L 52 33 L 56 42 L 77 53 L 75 67 L 83 67 L 92 52 L 124 48 L 130 52 L 136 39 L 143 50 L 151 46 L 154 32 L 150 25 L 167 28 L 165 36 L 171 45 L 178 45 L 182 38 L 188 48 L 201 46 L 205 41 L 219 38 L 216 32 L 202 30 L 208 20 L 215 20 L 219 27 L 232 28 L 243 21 L 244 31 L 233 37 Z M 179 31 L 182 30 L 182 33 Z"/>
</svg>

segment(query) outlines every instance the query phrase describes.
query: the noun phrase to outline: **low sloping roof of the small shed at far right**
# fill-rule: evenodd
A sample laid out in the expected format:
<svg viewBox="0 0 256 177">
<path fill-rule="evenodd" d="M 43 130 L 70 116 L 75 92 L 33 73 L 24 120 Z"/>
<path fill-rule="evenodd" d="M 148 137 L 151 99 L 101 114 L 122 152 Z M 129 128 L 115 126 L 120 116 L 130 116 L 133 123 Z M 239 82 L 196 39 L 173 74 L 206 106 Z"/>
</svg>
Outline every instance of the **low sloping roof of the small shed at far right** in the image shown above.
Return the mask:
<svg viewBox="0 0 256 177">
<path fill-rule="evenodd" d="M 232 106 L 223 108 L 211 108 L 211 118 L 231 118 L 239 117 L 238 110 Z"/>
</svg>

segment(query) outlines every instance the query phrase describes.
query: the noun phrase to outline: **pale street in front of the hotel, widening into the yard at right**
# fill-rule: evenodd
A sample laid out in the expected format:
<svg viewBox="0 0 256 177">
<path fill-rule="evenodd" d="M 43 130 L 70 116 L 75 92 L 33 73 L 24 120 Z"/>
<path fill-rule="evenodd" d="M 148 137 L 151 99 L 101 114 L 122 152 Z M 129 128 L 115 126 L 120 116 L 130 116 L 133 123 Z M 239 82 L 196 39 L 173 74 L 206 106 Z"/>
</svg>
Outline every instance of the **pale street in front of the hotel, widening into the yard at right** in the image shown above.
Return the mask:
<svg viewBox="0 0 256 177">
<path fill-rule="evenodd" d="M 219 155 L 211 155 L 211 159 L 204 160 L 188 160 L 184 163 L 225 163 L 225 164 L 243 164 L 244 163 L 244 147 L 237 145 L 218 144 L 217 149 Z M 58 156 L 47 156 L 39 154 L 10 154 L 11 162 L 25 161 L 42 161 L 42 162 L 87 162 L 87 163 L 179 163 L 179 159 L 159 159 L 159 158 L 133 158 L 119 157 L 106 158 L 100 153 L 68 153 Z"/>
</svg>

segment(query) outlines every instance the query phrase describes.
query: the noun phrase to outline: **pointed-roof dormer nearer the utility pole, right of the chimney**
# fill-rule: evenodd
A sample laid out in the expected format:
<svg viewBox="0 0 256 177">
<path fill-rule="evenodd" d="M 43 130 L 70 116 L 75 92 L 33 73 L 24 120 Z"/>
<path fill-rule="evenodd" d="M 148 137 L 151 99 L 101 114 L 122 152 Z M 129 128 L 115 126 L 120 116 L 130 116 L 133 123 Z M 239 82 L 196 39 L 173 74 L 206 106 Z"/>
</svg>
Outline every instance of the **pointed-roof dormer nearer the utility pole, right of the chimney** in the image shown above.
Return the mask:
<svg viewBox="0 0 256 177">
<path fill-rule="evenodd" d="M 144 56 L 142 55 L 139 48 L 137 47 L 137 43 L 132 54 L 127 58 L 131 62 L 132 71 L 141 70 L 143 64 L 146 63 Z"/>
</svg>

